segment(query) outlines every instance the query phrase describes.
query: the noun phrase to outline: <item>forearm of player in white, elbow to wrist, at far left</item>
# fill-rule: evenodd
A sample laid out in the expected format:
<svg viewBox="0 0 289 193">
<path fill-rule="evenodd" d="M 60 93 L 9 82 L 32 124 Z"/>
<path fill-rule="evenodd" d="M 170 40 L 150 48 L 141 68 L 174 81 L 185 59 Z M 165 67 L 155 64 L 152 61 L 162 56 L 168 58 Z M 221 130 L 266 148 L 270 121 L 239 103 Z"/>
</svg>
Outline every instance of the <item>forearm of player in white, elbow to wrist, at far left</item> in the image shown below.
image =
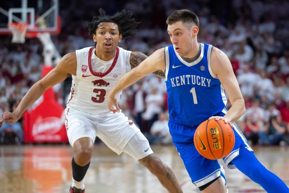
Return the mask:
<svg viewBox="0 0 289 193">
<path fill-rule="evenodd" d="M 40 81 L 36 82 L 23 97 L 20 104 L 13 111 L 13 114 L 19 119 L 23 112 L 39 99 L 45 90 L 46 89 L 41 86 Z"/>
</svg>

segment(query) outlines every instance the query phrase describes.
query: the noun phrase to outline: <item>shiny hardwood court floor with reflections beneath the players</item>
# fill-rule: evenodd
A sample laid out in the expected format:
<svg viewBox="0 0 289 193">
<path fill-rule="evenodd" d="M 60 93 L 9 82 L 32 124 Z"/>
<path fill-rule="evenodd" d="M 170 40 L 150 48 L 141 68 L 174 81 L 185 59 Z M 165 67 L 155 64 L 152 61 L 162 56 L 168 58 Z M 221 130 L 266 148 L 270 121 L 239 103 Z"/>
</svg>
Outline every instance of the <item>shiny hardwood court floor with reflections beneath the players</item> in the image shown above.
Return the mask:
<svg viewBox="0 0 289 193">
<path fill-rule="evenodd" d="M 175 173 L 184 193 L 199 192 L 174 146 L 152 146 Z M 258 159 L 289 185 L 289 147 L 253 147 Z M 0 145 L 0 192 L 62 193 L 71 185 L 69 145 Z M 221 162 L 222 163 L 222 162 Z M 226 169 L 229 192 L 265 192 L 237 169 Z M 118 156 L 105 145 L 96 145 L 85 177 L 86 193 L 167 193 L 138 161 Z"/>
</svg>

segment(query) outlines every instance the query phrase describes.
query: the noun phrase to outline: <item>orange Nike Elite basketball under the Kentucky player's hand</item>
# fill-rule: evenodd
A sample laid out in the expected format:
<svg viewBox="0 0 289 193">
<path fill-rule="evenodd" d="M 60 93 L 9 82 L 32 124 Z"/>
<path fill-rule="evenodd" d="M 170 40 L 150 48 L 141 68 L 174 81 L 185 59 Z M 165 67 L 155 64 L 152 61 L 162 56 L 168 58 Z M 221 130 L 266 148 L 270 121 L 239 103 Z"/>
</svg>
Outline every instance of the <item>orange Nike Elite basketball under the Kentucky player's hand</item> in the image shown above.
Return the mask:
<svg viewBox="0 0 289 193">
<path fill-rule="evenodd" d="M 226 157 L 235 145 L 235 134 L 229 124 L 215 119 L 202 122 L 195 131 L 194 144 L 197 151 L 207 159 Z"/>
</svg>

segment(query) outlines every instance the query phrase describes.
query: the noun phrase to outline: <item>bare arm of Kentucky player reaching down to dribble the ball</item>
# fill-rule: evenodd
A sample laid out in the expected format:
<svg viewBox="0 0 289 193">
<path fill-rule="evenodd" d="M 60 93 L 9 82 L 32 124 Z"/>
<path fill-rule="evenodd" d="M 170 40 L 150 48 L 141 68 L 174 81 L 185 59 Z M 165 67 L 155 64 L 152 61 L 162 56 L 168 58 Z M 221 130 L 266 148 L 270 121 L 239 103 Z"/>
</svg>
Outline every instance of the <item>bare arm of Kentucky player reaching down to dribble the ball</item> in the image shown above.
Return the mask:
<svg viewBox="0 0 289 193">
<path fill-rule="evenodd" d="M 228 95 L 228 99 L 232 104 L 232 107 L 224 116 L 226 119 L 225 122 L 228 121 L 233 123 L 244 114 L 246 109 L 244 98 L 241 94 L 232 64 L 224 52 L 218 48 L 214 48 L 210 57 L 210 65 L 213 73 L 219 78 Z M 229 124 L 231 125 L 231 123 Z"/>
</svg>

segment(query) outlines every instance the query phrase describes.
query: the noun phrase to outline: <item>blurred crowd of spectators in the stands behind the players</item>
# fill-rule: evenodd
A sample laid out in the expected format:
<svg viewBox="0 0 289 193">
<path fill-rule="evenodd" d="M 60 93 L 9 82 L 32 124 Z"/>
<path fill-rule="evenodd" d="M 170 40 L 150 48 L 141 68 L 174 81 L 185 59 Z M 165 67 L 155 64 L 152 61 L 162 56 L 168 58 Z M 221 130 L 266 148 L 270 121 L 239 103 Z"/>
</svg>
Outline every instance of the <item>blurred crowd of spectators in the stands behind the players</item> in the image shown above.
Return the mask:
<svg viewBox="0 0 289 193">
<path fill-rule="evenodd" d="M 133 12 L 136 21 L 141 21 L 138 33 L 119 46 L 146 55 L 171 44 L 165 24 L 170 13 L 183 8 L 194 11 L 200 20 L 198 42 L 221 49 L 232 63 L 247 109 L 238 122 L 245 136 L 253 144 L 289 144 L 289 2 L 60 1 L 62 32 L 52 40 L 61 55 L 94 46 L 86 24 L 100 7 L 107 14 L 123 8 Z M 11 36 L 1 37 L 0 114 L 13 111 L 41 78 L 42 49 L 37 39 L 12 44 Z M 63 87 L 54 89 L 57 101 L 64 105 L 70 85 L 68 78 Z M 165 81 L 149 75 L 124 90 L 120 101 L 123 112 L 153 144 L 171 143 L 166 98 Z M 21 122 L 15 129 L 18 133 L 19 127 Z M 23 140 L 23 133 L 18 135 Z"/>
</svg>

